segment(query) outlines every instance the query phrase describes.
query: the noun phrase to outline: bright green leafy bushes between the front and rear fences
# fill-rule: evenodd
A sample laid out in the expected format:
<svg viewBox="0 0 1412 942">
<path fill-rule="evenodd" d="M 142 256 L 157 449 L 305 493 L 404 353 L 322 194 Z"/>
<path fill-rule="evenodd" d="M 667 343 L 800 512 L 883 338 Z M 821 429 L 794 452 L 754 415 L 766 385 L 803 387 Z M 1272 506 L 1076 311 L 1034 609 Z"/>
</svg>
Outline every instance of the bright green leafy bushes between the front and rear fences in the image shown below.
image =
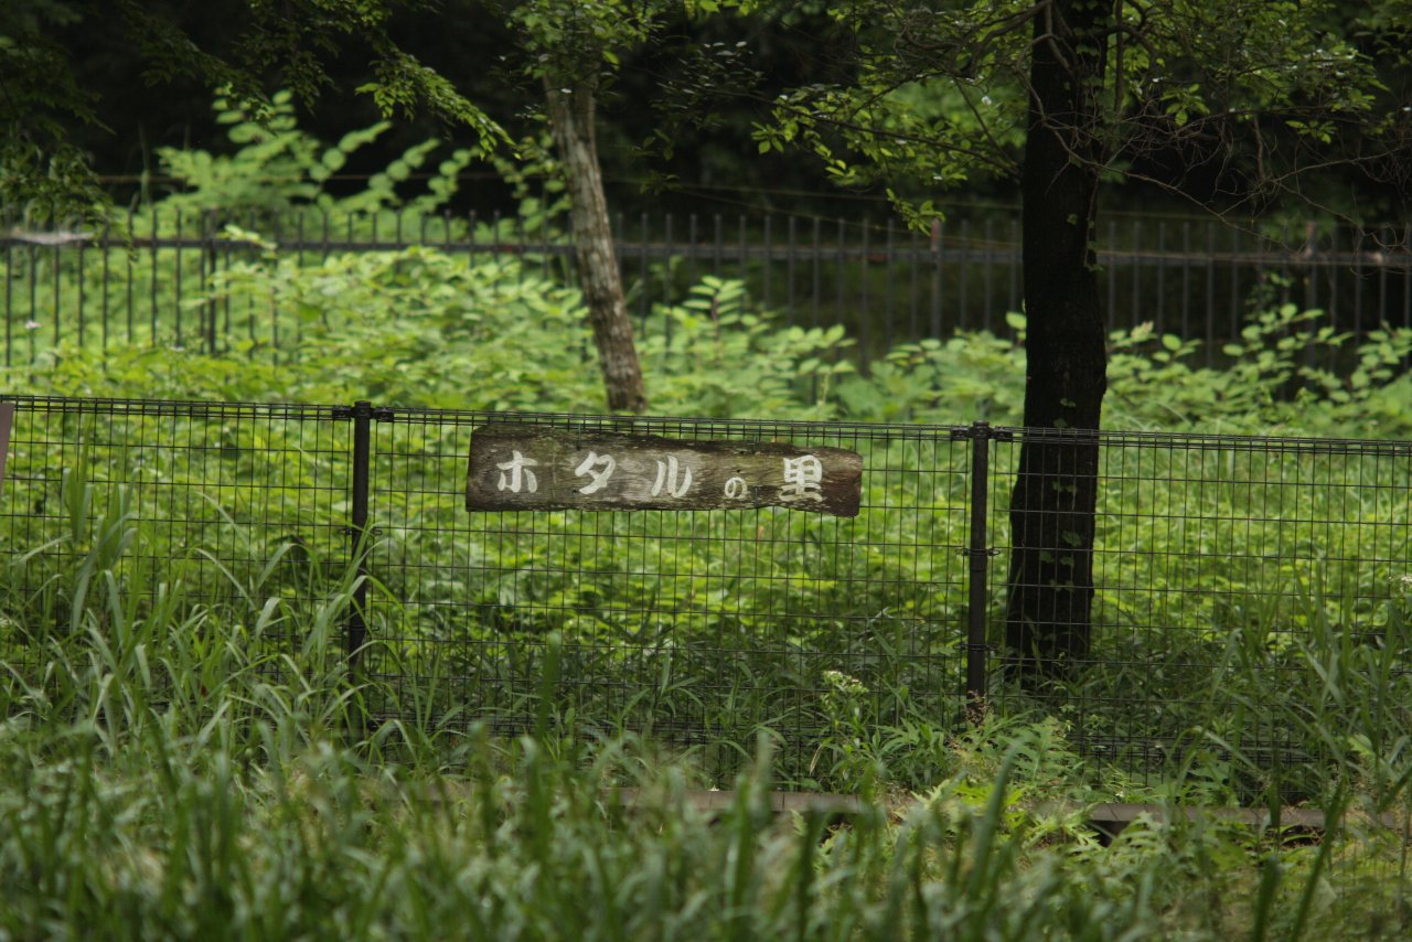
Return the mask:
<svg viewBox="0 0 1412 942">
<path fill-rule="evenodd" d="M 220 273 L 210 302 L 292 311 L 298 340 L 199 349 L 61 346 L 13 367 L 14 391 L 223 401 L 600 411 L 582 299 L 532 260 L 474 261 L 438 249 L 275 254 Z M 192 305 L 206 304 L 196 299 Z M 842 328 L 781 326 L 738 282 L 706 278 L 640 325 L 652 412 L 771 419 L 1018 424 L 1024 318 L 1015 339 L 962 332 L 901 345 L 861 374 Z M 1412 330 L 1354 345 L 1317 311 L 1257 306 L 1221 367 L 1199 342 L 1151 325 L 1110 340 L 1106 424 L 1121 429 L 1406 438 Z"/>
</svg>

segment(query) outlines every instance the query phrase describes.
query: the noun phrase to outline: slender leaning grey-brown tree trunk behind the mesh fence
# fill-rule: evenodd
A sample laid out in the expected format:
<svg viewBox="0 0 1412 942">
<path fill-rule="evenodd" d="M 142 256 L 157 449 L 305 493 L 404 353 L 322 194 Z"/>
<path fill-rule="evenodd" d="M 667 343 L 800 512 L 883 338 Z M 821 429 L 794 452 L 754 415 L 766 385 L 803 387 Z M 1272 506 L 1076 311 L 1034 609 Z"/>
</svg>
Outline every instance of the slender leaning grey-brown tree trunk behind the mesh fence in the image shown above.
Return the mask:
<svg viewBox="0 0 1412 942">
<path fill-rule="evenodd" d="M 545 79 L 549 130 L 569 186 L 569 220 L 579 282 L 589 305 L 593 343 L 599 350 L 609 408 L 642 412 L 647 393 L 633 343 L 633 322 L 623 298 L 623 277 L 613 251 L 613 229 L 603 198 L 603 171 L 593 134 L 594 89 L 578 82 L 569 89 Z"/>
</svg>

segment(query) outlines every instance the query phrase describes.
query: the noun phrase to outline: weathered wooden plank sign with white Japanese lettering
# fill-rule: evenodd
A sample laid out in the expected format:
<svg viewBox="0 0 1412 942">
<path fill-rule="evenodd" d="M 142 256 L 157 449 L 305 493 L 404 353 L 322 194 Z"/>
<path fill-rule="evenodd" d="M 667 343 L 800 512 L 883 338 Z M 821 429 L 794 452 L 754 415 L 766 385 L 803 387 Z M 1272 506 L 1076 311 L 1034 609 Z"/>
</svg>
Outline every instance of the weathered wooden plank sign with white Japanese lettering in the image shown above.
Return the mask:
<svg viewBox="0 0 1412 942">
<path fill-rule="evenodd" d="M 494 422 L 472 434 L 466 508 L 792 507 L 856 517 L 861 480 L 863 458 L 842 448 Z"/>
</svg>

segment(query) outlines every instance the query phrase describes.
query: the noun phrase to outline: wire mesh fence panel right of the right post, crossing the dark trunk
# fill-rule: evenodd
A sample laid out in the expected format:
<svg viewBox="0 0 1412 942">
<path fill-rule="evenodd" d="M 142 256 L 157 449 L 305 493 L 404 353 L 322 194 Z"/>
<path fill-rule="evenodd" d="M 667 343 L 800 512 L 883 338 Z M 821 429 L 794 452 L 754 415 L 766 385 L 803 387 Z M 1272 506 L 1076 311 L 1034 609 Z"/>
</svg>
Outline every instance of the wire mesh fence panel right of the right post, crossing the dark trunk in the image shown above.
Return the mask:
<svg viewBox="0 0 1412 942">
<path fill-rule="evenodd" d="M 1014 630 L 1007 497 L 1027 441 L 1091 446 L 1062 432 L 997 436 L 991 638 Z M 1387 689 L 1360 688 L 1365 678 L 1350 664 L 1360 650 L 1377 652 L 1388 689 L 1412 688 L 1399 647 L 1412 614 L 1412 445 L 1137 432 L 1089 441 L 1099 465 L 1087 650 L 1076 679 L 1029 692 L 997 658 L 997 705 L 1045 703 L 1069 720 L 1082 753 L 1145 771 L 1193 751 L 1261 767 L 1315 763 L 1330 734 L 1357 726 L 1357 710 L 1402 710 Z M 1083 548 L 1060 537 L 1045 551 L 1063 562 Z"/>
</svg>

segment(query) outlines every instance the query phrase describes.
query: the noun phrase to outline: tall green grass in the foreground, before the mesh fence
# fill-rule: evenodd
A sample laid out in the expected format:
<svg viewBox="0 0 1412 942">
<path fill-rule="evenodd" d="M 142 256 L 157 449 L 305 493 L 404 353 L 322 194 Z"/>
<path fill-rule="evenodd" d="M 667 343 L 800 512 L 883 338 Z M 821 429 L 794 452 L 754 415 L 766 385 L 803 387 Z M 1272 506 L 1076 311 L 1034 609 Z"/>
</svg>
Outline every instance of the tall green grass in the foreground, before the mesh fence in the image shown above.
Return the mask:
<svg viewBox="0 0 1412 942">
<path fill-rule="evenodd" d="M 1135 787 L 1053 720 L 991 719 L 890 757 L 839 816 L 770 811 L 771 747 L 723 811 L 690 757 L 585 739 L 541 691 L 535 729 L 360 726 L 336 624 L 233 626 L 140 604 L 96 566 L 65 634 L 0 685 L 0 934 L 8 938 L 1395 938 L 1405 802 L 1329 782 L 1322 840 L 1209 816 L 1084 825 L 1123 797 L 1210 805 L 1200 775 Z M 304 638 L 298 650 L 281 641 Z M 274 640 L 273 644 L 263 641 Z M 1358 668 L 1354 668 L 1358 669 Z M 846 703 L 837 706 L 847 712 Z M 840 717 L 843 719 L 843 717 Z M 846 722 L 846 720 L 844 720 Z M 1401 765 L 1391 753 L 1384 753 Z M 1402 771 L 1402 775 L 1406 773 Z M 1402 791 L 1396 782 L 1392 794 Z M 1173 791 L 1175 789 L 1175 791 Z M 1391 825 L 1391 826 L 1389 826 Z"/>
</svg>

